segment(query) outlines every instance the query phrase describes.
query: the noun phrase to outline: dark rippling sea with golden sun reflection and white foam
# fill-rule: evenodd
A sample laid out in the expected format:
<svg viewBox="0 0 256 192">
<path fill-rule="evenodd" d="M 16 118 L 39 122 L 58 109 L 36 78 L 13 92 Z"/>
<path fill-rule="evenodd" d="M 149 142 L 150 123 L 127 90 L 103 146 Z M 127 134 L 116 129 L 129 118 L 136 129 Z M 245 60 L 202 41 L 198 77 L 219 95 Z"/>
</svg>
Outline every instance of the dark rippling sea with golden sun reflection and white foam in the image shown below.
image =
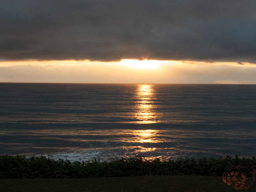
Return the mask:
<svg viewBox="0 0 256 192">
<path fill-rule="evenodd" d="M 256 85 L 0 83 L 0 155 L 256 156 Z"/>
</svg>

